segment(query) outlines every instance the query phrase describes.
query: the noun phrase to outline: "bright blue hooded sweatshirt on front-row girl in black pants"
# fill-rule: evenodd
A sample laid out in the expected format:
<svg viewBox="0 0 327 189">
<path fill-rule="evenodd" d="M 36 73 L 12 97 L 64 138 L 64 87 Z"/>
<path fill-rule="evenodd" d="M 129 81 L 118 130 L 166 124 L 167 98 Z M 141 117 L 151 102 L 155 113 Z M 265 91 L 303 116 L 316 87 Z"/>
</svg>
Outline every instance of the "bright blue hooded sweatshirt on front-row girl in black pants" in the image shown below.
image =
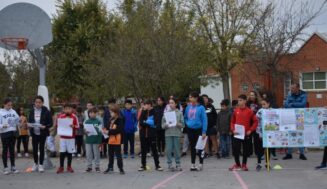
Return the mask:
<svg viewBox="0 0 327 189">
<path fill-rule="evenodd" d="M 206 134 L 208 119 L 205 108 L 200 105 L 188 105 L 186 107 L 184 121 L 190 129 L 202 129 L 202 134 Z"/>
</svg>

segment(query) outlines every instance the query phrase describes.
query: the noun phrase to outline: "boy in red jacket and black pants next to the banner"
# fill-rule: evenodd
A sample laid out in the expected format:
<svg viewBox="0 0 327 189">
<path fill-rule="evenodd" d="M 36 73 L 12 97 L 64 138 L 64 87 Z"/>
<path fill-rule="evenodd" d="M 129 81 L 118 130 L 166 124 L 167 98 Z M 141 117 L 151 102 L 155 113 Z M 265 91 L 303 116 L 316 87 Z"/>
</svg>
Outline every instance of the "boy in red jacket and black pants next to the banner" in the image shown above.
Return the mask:
<svg viewBox="0 0 327 189">
<path fill-rule="evenodd" d="M 247 97 L 244 94 L 238 96 L 238 107 L 234 110 L 232 115 L 230 127 L 232 133 L 234 134 L 233 153 L 235 164 L 229 168 L 230 171 L 249 170 L 246 166 L 247 155 L 249 153 L 249 140 L 251 133 L 256 131 L 258 119 L 253 111 L 246 106 L 246 99 Z M 242 129 L 244 130 L 244 133 L 241 133 Z M 242 166 L 240 163 L 241 146 L 243 146 Z"/>
</svg>

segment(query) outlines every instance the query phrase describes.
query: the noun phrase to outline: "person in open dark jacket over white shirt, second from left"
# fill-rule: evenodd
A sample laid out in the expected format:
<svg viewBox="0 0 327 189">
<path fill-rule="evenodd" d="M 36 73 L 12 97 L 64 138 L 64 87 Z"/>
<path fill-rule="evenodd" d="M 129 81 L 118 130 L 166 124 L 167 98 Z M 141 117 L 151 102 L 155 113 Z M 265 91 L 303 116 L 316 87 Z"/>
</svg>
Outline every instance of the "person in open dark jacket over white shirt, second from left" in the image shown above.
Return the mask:
<svg viewBox="0 0 327 189">
<path fill-rule="evenodd" d="M 34 123 L 34 127 L 30 128 L 32 136 L 34 165 L 32 171 L 44 172 L 44 147 L 46 138 L 49 136 L 49 129 L 52 127 L 52 116 L 47 107 L 43 106 L 44 99 L 37 96 L 34 100 L 34 107 L 29 114 L 29 123 Z M 40 158 L 38 156 L 40 152 Z"/>
</svg>

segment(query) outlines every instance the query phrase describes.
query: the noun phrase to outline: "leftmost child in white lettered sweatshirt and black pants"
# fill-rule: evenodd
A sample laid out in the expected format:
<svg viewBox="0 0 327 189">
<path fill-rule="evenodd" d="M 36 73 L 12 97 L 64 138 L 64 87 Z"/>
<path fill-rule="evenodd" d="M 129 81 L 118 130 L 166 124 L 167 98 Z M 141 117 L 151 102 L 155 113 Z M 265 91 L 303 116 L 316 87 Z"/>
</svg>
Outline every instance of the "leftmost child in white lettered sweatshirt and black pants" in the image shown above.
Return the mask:
<svg viewBox="0 0 327 189">
<path fill-rule="evenodd" d="M 0 110 L 0 135 L 2 142 L 2 161 L 4 166 L 3 173 L 8 175 L 10 173 L 19 173 L 15 168 L 15 133 L 17 131 L 17 125 L 19 124 L 19 116 L 16 111 L 12 109 L 12 101 L 10 99 L 6 99 L 3 105 L 4 109 Z M 10 170 L 7 164 L 8 150 L 10 154 Z"/>
</svg>

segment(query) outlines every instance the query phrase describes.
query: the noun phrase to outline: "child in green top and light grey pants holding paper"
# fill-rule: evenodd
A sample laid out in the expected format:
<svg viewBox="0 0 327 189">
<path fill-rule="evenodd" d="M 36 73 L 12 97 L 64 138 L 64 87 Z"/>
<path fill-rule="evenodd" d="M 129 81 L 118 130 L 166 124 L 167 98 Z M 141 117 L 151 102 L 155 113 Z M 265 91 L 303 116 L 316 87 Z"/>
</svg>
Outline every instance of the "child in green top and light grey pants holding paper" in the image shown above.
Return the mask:
<svg viewBox="0 0 327 189">
<path fill-rule="evenodd" d="M 97 119 L 98 110 L 91 108 L 88 111 L 89 119 L 85 121 L 84 130 L 86 133 L 85 148 L 87 169 L 86 172 L 92 172 L 92 161 L 95 163 L 95 171 L 100 173 L 100 151 L 99 146 L 102 142 L 102 125 Z M 90 128 L 93 127 L 93 128 Z"/>
</svg>

